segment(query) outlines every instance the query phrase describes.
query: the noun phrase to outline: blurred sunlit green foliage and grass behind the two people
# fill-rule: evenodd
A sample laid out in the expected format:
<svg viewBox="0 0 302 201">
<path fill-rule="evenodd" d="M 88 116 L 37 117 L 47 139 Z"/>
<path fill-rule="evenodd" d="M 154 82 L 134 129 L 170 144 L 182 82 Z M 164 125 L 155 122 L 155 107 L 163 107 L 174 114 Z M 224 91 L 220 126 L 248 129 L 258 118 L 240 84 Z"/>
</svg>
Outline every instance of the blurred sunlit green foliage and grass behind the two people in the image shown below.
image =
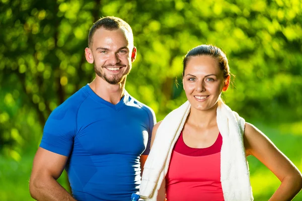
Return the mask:
<svg viewBox="0 0 302 201">
<path fill-rule="evenodd" d="M 32 200 L 28 180 L 43 126 L 94 78 L 84 49 L 102 16 L 132 27 L 138 55 L 126 89 L 158 121 L 186 100 L 175 85 L 183 56 L 216 45 L 236 75 L 225 103 L 302 170 L 301 11 L 300 0 L 0 0 L 0 199 Z M 248 160 L 255 200 L 268 200 L 280 182 Z M 67 186 L 65 174 L 59 181 Z"/>
</svg>

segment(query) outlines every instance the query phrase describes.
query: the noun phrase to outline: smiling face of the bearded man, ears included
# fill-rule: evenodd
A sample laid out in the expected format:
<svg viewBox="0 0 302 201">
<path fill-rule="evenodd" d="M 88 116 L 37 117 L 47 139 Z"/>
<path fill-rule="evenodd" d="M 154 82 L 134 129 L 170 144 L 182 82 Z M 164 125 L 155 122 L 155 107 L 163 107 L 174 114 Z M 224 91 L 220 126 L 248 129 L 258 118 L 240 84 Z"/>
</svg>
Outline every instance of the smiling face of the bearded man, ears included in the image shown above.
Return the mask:
<svg viewBox="0 0 302 201">
<path fill-rule="evenodd" d="M 86 50 L 86 58 L 87 58 Z M 93 35 L 90 53 L 93 56 L 96 74 L 110 84 L 119 84 L 129 74 L 131 63 L 136 56 L 136 48 L 129 44 L 124 29 L 106 30 L 100 28 Z"/>
</svg>

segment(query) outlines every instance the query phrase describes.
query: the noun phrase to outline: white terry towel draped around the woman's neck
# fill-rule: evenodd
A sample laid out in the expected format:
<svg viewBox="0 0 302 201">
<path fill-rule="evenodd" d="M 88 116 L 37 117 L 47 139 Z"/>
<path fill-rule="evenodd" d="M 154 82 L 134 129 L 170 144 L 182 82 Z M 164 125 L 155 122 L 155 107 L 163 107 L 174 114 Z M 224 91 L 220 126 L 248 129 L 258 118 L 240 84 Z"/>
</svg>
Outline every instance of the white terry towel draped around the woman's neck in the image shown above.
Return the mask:
<svg viewBox="0 0 302 201">
<path fill-rule="evenodd" d="M 139 193 L 144 200 L 156 200 L 158 190 L 169 168 L 174 144 L 189 112 L 190 103 L 187 101 L 169 113 L 159 126 L 142 174 Z M 253 200 L 243 143 L 245 120 L 219 99 L 217 125 L 222 136 L 220 181 L 224 200 Z"/>
</svg>

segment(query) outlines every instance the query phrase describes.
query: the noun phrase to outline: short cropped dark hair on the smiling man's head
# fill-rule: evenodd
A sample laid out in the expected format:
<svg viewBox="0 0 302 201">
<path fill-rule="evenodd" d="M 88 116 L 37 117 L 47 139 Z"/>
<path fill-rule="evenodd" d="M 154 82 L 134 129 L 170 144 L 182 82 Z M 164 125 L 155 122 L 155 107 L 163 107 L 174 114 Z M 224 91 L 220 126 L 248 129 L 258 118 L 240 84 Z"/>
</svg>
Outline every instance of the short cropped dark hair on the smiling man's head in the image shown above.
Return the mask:
<svg viewBox="0 0 302 201">
<path fill-rule="evenodd" d="M 93 43 L 92 38 L 93 38 L 94 33 L 100 28 L 105 28 L 106 30 L 110 30 L 110 31 L 124 28 L 125 31 L 128 32 L 128 34 L 126 33 L 128 42 L 133 44 L 133 33 L 132 33 L 132 29 L 131 29 L 130 25 L 120 18 L 109 16 L 109 17 L 103 17 L 103 18 L 99 19 L 90 28 L 89 35 L 88 35 L 88 47 L 89 48 L 91 48 L 91 46 L 92 46 L 92 43 Z"/>
</svg>

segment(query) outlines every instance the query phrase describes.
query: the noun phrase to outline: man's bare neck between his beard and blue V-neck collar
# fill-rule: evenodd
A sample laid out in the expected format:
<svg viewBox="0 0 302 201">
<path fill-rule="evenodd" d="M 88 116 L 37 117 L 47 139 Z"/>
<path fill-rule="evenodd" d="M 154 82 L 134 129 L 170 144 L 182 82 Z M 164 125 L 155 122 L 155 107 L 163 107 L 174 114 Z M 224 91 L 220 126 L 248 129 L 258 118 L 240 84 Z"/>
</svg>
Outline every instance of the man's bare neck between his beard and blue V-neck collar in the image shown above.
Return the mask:
<svg viewBox="0 0 302 201">
<path fill-rule="evenodd" d="M 126 78 L 120 84 L 109 84 L 101 77 L 96 77 L 90 84 L 90 88 L 107 102 L 116 105 L 124 96 Z"/>
</svg>

